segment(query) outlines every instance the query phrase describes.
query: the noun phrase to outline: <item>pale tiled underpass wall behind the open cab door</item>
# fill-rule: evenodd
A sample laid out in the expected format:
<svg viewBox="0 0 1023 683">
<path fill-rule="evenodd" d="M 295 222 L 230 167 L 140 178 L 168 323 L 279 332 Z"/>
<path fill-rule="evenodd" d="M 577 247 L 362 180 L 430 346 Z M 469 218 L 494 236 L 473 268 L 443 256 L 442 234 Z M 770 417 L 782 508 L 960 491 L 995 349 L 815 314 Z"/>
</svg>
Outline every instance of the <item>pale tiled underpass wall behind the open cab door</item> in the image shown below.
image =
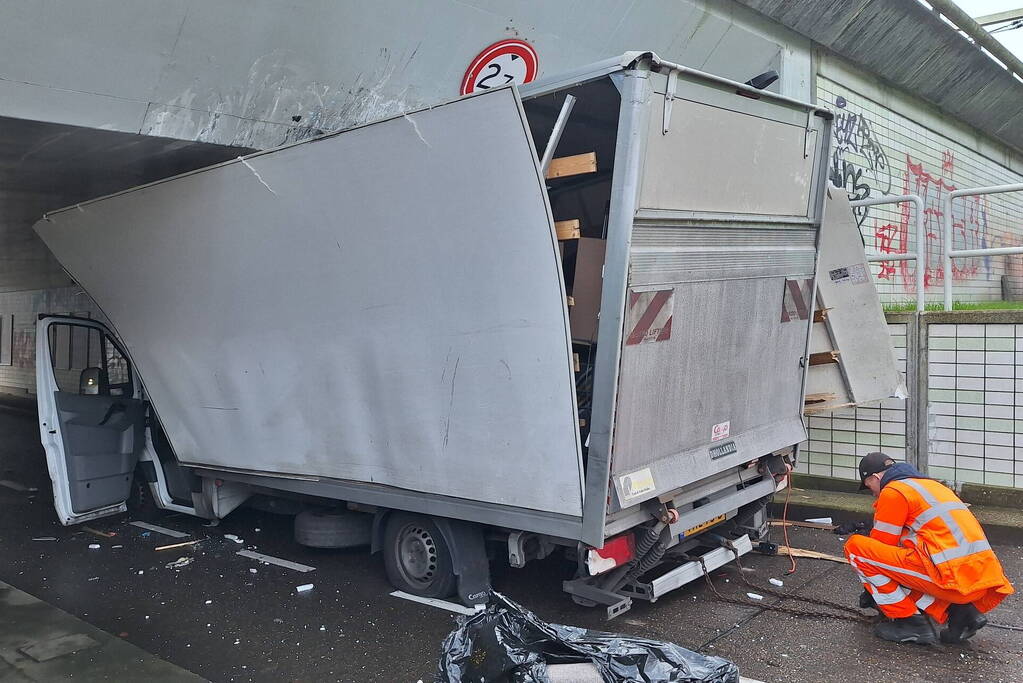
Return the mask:
<svg viewBox="0 0 1023 683">
<path fill-rule="evenodd" d="M 104 319 L 81 287 L 0 292 L 0 391 L 35 393 L 40 313 Z"/>
</svg>

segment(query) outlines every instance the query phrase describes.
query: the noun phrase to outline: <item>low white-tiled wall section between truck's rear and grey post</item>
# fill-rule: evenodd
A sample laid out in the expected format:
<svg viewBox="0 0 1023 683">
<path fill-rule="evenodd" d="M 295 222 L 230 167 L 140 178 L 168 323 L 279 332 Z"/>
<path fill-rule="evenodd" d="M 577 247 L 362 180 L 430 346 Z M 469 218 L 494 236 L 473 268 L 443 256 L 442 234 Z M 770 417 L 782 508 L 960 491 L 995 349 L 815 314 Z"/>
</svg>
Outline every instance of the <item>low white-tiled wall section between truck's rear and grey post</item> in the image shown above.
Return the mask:
<svg viewBox="0 0 1023 683">
<path fill-rule="evenodd" d="M 899 370 L 906 371 L 906 324 L 888 325 Z M 797 471 L 856 479 L 856 463 L 873 451 L 906 457 L 906 406 L 886 399 L 872 407 L 845 408 L 806 418 L 809 441 L 800 447 Z"/>
</svg>

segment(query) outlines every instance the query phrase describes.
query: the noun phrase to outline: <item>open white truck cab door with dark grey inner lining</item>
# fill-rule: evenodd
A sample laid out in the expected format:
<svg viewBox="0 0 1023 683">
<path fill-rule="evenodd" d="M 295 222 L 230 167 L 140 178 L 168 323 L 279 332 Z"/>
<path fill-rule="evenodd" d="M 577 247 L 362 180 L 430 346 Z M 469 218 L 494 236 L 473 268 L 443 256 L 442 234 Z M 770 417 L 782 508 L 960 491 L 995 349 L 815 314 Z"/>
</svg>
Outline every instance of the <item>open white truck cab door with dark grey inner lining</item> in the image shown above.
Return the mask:
<svg viewBox="0 0 1023 683">
<path fill-rule="evenodd" d="M 36 391 L 60 523 L 124 512 L 145 443 L 145 406 L 120 343 L 98 322 L 41 316 Z"/>
</svg>

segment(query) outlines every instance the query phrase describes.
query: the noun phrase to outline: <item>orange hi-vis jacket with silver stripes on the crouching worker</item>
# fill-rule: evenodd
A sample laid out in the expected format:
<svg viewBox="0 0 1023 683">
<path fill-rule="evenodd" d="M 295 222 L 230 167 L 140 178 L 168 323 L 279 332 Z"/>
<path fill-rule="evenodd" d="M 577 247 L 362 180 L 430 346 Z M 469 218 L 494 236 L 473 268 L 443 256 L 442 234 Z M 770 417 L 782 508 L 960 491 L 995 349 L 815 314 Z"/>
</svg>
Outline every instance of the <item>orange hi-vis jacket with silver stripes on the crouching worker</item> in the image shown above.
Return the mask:
<svg viewBox="0 0 1023 683">
<path fill-rule="evenodd" d="M 942 484 L 927 479 L 889 482 L 875 510 L 871 537 L 915 547 L 935 584 L 961 593 L 1010 585 L 980 522 Z"/>
</svg>

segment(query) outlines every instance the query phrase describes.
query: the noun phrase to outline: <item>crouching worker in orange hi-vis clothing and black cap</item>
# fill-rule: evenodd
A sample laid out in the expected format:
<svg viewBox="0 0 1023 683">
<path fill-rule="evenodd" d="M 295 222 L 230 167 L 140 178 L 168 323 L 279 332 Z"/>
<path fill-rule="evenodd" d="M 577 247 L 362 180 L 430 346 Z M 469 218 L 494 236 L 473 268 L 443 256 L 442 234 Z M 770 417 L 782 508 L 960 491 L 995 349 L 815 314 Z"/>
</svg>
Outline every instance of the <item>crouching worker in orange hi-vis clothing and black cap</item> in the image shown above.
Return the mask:
<svg viewBox="0 0 1023 683">
<path fill-rule="evenodd" d="M 874 529 L 853 535 L 845 556 L 863 583 L 861 607 L 888 618 L 874 628 L 880 638 L 934 644 L 973 637 L 987 624 L 983 613 L 1014 592 L 984 530 L 966 503 L 946 486 L 884 453 L 859 461 L 860 489 L 870 489 Z"/>
</svg>

